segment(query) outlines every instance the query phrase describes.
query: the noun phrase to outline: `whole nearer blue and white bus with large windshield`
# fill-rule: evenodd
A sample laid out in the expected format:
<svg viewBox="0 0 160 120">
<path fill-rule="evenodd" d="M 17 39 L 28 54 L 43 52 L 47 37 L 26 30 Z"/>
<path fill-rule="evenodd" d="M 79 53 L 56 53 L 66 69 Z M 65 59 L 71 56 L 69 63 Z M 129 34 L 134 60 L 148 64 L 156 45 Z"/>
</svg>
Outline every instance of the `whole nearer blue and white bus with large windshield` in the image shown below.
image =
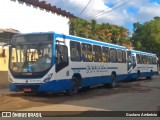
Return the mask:
<svg viewBox="0 0 160 120">
<path fill-rule="evenodd" d="M 9 49 L 11 91 L 75 95 L 127 78 L 126 48 L 119 45 L 48 32 L 15 35 Z"/>
</svg>

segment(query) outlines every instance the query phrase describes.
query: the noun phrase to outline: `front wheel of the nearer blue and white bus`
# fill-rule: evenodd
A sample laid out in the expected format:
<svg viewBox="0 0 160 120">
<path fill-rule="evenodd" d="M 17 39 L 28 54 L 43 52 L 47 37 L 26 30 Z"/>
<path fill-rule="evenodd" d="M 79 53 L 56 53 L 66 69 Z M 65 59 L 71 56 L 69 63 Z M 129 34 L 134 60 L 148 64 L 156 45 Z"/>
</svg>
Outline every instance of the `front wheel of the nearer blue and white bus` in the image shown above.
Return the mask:
<svg viewBox="0 0 160 120">
<path fill-rule="evenodd" d="M 71 85 L 70 90 L 67 90 L 67 94 L 70 96 L 75 96 L 77 95 L 78 90 L 79 90 L 78 79 L 72 78 L 71 82 L 72 82 L 72 85 Z"/>
</svg>

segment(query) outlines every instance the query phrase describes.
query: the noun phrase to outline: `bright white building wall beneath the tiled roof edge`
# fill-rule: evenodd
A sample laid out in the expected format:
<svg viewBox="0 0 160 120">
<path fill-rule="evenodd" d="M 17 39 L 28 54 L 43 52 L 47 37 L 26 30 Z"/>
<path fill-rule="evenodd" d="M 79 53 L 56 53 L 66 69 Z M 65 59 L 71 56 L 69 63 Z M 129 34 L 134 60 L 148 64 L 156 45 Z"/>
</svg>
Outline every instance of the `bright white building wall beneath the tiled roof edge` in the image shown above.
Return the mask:
<svg viewBox="0 0 160 120">
<path fill-rule="evenodd" d="M 69 34 L 69 18 L 19 2 L 0 0 L 0 27 L 14 28 L 21 33 L 54 31 Z"/>
</svg>

